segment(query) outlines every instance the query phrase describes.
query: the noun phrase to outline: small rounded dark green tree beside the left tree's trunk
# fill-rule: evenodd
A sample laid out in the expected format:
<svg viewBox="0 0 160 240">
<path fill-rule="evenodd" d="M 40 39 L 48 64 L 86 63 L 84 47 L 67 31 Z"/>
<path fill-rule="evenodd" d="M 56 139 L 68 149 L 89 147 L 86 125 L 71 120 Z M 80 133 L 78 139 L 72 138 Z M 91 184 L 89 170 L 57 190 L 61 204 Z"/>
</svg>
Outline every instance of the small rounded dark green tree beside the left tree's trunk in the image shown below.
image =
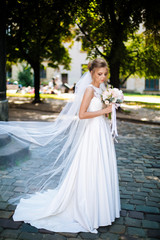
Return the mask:
<svg viewBox="0 0 160 240">
<path fill-rule="evenodd" d="M 18 73 L 18 83 L 24 87 L 33 86 L 33 74 L 31 67 L 22 65 L 23 70 Z"/>
</svg>

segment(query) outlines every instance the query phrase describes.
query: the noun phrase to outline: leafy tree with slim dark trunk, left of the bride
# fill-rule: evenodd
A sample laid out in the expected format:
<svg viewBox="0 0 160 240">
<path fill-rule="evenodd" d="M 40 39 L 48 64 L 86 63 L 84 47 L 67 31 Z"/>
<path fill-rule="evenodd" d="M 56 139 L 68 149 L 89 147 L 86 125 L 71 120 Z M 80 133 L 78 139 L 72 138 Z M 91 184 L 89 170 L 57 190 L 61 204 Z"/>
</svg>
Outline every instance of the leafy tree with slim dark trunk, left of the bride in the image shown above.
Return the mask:
<svg viewBox="0 0 160 240">
<path fill-rule="evenodd" d="M 34 70 L 35 102 L 40 101 L 40 64 L 59 64 L 69 69 L 71 61 L 63 41 L 71 37 L 67 0 L 14 0 L 8 2 L 7 58 L 26 60 Z"/>
</svg>

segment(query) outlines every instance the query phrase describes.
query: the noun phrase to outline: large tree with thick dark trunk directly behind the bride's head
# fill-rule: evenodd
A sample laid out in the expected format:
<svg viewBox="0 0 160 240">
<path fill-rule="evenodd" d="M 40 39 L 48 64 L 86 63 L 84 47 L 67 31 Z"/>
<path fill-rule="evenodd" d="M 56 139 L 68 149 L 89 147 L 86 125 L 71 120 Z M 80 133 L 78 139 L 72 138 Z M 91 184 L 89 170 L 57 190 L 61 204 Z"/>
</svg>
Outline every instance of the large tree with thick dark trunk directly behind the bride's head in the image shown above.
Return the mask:
<svg viewBox="0 0 160 240">
<path fill-rule="evenodd" d="M 141 1 L 88 0 L 80 6 L 77 25 L 81 30 L 83 48 L 89 57 L 101 56 L 110 67 L 110 82 L 119 87 L 120 67 L 126 55 L 124 42 L 142 22 Z"/>
</svg>

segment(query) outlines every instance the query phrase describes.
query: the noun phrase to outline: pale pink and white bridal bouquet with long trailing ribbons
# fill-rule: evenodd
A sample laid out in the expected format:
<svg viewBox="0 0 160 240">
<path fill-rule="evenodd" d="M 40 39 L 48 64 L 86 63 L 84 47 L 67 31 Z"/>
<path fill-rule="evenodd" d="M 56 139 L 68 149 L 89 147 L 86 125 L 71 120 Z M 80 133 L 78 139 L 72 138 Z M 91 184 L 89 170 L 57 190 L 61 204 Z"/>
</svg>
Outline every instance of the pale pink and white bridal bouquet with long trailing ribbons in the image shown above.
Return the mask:
<svg viewBox="0 0 160 240">
<path fill-rule="evenodd" d="M 107 88 L 101 95 L 102 102 L 105 105 L 112 104 L 112 114 L 108 114 L 108 118 L 111 119 L 112 125 L 112 136 L 115 139 L 118 136 L 117 133 L 117 124 L 116 124 L 116 109 L 124 101 L 124 95 L 122 90 L 118 88 Z M 116 140 L 116 139 L 115 139 Z"/>
</svg>

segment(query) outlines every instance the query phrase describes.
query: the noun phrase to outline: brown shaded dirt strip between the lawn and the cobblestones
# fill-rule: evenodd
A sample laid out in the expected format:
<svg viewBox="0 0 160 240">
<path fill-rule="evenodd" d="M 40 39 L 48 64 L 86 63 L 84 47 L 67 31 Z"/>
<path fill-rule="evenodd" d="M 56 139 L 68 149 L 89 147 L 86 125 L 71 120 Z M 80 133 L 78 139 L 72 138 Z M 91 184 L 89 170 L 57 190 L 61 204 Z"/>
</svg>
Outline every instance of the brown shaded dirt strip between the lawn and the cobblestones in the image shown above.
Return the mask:
<svg viewBox="0 0 160 240">
<path fill-rule="evenodd" d="M 32 104 L 31 99 L 10 97 L 9 121 L 54 121 L 67 100 L 45 99 Z M 160 111 L 140 105 L 121 104 L 124 111 L 117 111 L 117 119 L 160 124 Z"/>
</svg>

